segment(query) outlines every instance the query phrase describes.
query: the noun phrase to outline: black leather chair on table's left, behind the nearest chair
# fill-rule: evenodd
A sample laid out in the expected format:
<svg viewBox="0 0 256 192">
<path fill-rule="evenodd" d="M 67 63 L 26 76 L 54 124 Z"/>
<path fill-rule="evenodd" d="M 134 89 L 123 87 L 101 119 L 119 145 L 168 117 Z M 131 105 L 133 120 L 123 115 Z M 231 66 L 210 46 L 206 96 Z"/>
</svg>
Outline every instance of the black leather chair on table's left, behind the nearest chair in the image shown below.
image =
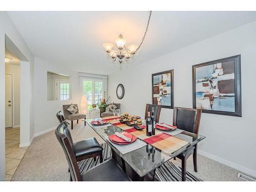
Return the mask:
<svg viewBox="0 0 256 192">
<path fill-rule="evenodd" d="M 56 116 L 58 119 L 62 120 L 63 118 L 61 118 L 60 112 L 58 112 Z M 65 126 L 64 125 L 62 126 L 62 129 L 63 129 L 62 132 L 67 136 L 67 138 L 71 142 L 71 146 L 72 146 L 72 149 L 74 150 L 77 162 L 83 159 L 91 158 L 91 157 L 94 157 L 94 160 L 96 160 L 97 156 L 100 157 L 100 163 L 103 161 L 102 159 L 103 148 L 100 146 L 100 144 L 94 137 L 73 143 L 71 133 L 69 131 L 68 125 L 66 124 L 67 122 L 62 121 L 61 124 L 62 123 L 65 124 Z"/>
</svg>

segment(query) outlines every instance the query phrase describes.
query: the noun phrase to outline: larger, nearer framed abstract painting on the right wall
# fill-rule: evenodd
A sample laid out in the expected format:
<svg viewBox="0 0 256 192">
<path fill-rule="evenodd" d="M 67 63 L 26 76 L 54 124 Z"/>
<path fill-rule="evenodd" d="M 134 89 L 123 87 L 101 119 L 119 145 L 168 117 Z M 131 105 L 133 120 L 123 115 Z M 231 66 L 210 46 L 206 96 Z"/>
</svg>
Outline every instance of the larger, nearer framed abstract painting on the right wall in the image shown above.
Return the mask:
<svg viewBox="0 0 256 192">
<path fill-rule="evenodd" d="M 242 117 L 240 55 L 192 68 L 193 108 L 204 113 Z"/>
</svg>

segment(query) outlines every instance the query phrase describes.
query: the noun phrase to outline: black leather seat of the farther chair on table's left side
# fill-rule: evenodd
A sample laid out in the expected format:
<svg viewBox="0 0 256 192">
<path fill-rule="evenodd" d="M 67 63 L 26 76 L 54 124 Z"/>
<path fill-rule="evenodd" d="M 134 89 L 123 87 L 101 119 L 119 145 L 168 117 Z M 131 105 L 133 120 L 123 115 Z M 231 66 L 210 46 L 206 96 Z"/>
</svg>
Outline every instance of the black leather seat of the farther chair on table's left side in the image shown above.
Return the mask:
<svg viewBox="0 0 256 192">
<path fill-rule="evenodd" d="M 94 137 L 74 143 L 76 158 L 102 151 L 103 148 Z"/>
</svg>

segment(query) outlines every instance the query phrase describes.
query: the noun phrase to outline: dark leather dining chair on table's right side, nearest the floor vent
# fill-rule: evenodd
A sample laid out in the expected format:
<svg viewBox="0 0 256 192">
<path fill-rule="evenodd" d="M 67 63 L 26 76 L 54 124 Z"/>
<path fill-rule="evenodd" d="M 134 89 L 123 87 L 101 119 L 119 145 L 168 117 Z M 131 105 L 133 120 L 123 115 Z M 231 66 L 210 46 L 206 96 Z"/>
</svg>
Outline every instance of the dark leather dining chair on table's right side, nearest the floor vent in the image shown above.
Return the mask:
<svg viewBox="0 0 256 192">
<path fill-rule="evenodd" d="M 198 134 L 202 110 L 188 108 L 174 108 L 173 125 L 184 131 Z M 181 159 L 182 181 L 186 180 L 186 160 L 193 154 L 194 170 L 197 172 L 197 144 L 189 147 L 186 151 L 179 154 Z M 176 160 L 176 158 L 174 158 Z"/>
</svg>

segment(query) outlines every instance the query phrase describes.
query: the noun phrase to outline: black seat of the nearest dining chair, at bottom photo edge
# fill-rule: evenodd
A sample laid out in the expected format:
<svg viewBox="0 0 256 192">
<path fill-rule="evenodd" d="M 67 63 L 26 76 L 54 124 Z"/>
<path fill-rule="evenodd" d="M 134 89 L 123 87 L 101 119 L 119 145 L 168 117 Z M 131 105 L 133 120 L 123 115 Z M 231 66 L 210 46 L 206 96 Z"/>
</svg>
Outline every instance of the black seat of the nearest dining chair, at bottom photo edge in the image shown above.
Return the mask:
<svg viewBox="0 0 256 192">
<path fill-rule="evenodd" d="M 82 174 L 83 181 L 131 181 L 114 159 L 89 169 Z"/>
</svg>

